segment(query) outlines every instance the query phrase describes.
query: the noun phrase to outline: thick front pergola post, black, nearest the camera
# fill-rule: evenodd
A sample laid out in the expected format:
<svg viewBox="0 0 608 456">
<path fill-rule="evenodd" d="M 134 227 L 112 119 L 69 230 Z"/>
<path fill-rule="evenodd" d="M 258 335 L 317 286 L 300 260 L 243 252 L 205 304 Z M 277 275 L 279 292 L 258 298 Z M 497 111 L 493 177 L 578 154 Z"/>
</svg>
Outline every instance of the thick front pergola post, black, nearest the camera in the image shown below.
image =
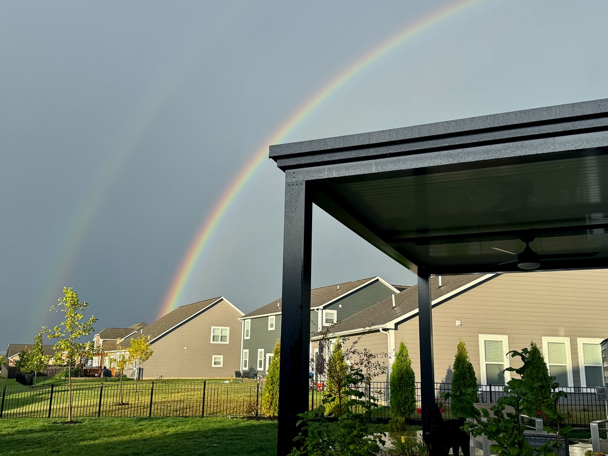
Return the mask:
<svg viewBox="0 0 608 456">
<path fill-rule="evenodd" d="M 310 184 L 285 185 L 283 304 L 278 389 L 277 455 L 285 456 L 298 434 L 298 413 L 308 410 L 310 272 L 313 203 Z"/>
</svg>

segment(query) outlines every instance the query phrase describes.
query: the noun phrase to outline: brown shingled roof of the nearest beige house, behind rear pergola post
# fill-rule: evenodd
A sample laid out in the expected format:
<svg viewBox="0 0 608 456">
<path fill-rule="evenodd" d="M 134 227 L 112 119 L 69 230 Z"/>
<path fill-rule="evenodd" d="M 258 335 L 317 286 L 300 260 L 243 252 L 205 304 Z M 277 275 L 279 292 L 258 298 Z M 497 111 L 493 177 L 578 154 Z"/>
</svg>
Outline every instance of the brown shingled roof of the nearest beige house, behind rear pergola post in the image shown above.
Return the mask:
<svg viewBox="0 0 608 456">
<path fill-rule="evenodd" d="M 480 283 L 487 282 L 494 277 L 497 277 L 497 275 L 444 275 L 441 277 L 441 287 L 439 286 L 439 277 L 431 278 L 430 295 L 432 304 L 436 305 L 443 302 L 445 299 L 458 295 Z M 373 328 L 387 328 L 417 313 L 418 285 L 414 285 L 395 295 L 395 307 L 393 307 L 392 297 L 387 298 L 341 322 L 337 322 L 331 327 L 330 332 L 331 334 L 356 333 Z"/>
</svg>

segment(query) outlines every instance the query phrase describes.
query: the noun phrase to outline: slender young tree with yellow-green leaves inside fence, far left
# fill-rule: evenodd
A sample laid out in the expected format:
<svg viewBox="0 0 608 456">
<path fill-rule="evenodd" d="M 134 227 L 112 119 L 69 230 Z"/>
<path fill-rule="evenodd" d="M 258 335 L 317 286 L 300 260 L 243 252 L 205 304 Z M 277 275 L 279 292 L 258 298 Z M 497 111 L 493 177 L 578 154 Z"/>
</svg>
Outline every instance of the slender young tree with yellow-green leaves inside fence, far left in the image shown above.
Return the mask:
<svg viewBox="0 0 608 456">
<path fill-rule="evenodd" d="M 78 293 L 72 287 L 63 288 L 63 297 L 57 300 L 57 307 L 51 306 L 50 311 L 63 313 L 63 322 L 55 326 L 53 330 L 43 327 L 43 333 L 49 333 L 50 340 L 57 339 L 53 345 L 57 354 L 53 362 L 55 364 L 67 364 L 67 378 L 69 382 L 69 401 L 67 405 L 67 422 L 72 423 L 72 366 L 83 353 L 91 351 L 93 342 L 80 342 L 80 337 L 88 336 L 94 331 L 93 324 L 97 321 L 91 316 L 82 322 L 83 312 L 89 306 L 86 302 L 80 302 Z"/>
</svg>

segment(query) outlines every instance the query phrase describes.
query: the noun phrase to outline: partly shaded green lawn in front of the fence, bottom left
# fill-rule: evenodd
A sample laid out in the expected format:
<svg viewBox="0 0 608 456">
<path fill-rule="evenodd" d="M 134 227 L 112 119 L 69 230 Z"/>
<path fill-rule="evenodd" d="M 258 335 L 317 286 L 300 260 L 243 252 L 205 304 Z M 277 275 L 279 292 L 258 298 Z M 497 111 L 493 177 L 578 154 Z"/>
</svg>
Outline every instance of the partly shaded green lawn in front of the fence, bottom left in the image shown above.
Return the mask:
<svg viewBox="0 0 608 456">
<path fill-rule="evenodd" d="M 276 421 L 228 418 L 0 420 L 2 455 L 275 455 Z"/>
</svg>

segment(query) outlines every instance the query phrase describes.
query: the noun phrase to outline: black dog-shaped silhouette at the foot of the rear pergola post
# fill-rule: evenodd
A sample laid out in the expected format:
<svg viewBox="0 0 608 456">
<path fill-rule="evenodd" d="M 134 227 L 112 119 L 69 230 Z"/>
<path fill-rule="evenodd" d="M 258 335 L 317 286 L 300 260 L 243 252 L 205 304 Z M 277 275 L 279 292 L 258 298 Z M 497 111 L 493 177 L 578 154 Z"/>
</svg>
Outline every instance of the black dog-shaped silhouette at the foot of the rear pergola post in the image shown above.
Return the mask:
<svg viewBox="0 0 608 456">
<path fill-rule="evenodd" d="M 463 455 L 469 456 L 469 434 L 460 429 L 465 424 L 465 418 L 444 420 L 437 406 L 429 408 L 429 419 L 422 428 L 429 456 L 447 456 L 450 448 L 454 456 L 458 456 L 459 448 Z"/>
</svg>

